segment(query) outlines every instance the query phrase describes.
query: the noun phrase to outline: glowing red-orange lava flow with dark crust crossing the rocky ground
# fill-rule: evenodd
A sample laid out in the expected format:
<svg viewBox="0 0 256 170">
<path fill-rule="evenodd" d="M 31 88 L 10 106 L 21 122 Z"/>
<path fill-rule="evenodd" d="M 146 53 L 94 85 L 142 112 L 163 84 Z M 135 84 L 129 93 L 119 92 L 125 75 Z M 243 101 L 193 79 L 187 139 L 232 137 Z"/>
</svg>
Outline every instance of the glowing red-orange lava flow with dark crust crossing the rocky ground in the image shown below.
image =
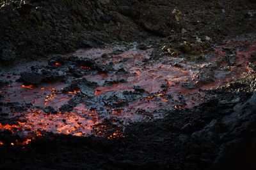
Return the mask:
<svg viewBox="0 0 256 170">
<path fill-rule="evenodd" d="M 225 85 L 248 73 L 250 71 L 248 57 L 256 53 L 256 41 L 250 38 L 246 41 L 229 40 L 225 45 L 216 46 L 215 53 L 205 55 L 205 60 L 197 61 L 181 56 L 164 56 L 158 60 L 152 60 L 150 53 L 153 49 L 131 49 L 121 54 L 113 53 L 118 48 L 120 46 L 108 46 L 100 49 L 78 50 L 73 54 L 93 59 L 95 62 L 113 64 L 116 68 L 127 71 L 122 74 L 85 75 L 87 80 L 101 84 L 95 89 L 94 96 L 92 94 L 88 97 L 80 90 L 62 92 L 61 89 L 67 86 L 65 84 L 35 88 L 32 85 L 13 83 L 2 89 L 4 103 L 31 103 L 35 106 L 20 112 L 12 109 L 6 111 L 8 118 L 19 117 L 26 121 L 15 120 L 13 124 L 0 123 L 0 129 L 7 129 L 13 133 L 19 131 L 24 133 L 24 136 L 31 136 L 23 141 L 12 141 L 10 145 L 28 144 L 33 139 L 33 133 L 35 136 L 42 136 L 43 132 L 74 136 L 96 134 L 107 136 L 109 139 L 122 138 L 125 124 L 161 117 L 156 115 L 159 109 L 191 108 L 209 98 L 204 90 Z M 58 62 L 55 65 L 65 67 Z M 88 66 L 80 66 L 80 69 L 91 71 L 91 67 Z M 106 82 L 114 83 L 106 85 Z M 113 96 L 109 97 L 109 100 L 116 97 L 115 92 L 122 92 L 122 95 L 132 94 L 135 97 L 129 101 L 125 97 L 120 99 L 117 97 L 110 106 L 104 101 L 103 104 L 100 103 L 107 96 L 106 94 L 111 92 Z M 70 111 L 60 110 L 61 106 L 68 105 L 70 99 L 79 94 L 80 97 L 84 96 L 88 99 L 88 103 L 76 104 L 70 108 Z M 93 104 L 89 99 L 93 97 L 97 107 L 89 109 L 90 104 Z M 49 106 L 51 107 L 47 108 Z M 45 109 L 54 111 L 45 111 Z M 106 119 L 109 122 L 106 122 Z M 4 145 L 4 141 L 0 141 L 0 145 Z"/>
</svg>

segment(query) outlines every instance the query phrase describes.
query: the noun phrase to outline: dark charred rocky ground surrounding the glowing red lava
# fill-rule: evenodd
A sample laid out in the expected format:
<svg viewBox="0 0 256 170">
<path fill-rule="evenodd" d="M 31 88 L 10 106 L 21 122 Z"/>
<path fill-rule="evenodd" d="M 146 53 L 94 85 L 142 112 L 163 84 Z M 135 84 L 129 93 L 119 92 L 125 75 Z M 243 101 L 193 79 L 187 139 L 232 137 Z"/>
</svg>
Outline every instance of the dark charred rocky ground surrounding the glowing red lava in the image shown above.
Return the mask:
<svg viewBox="0 0 256 170">
<path fill-rule="evenodd" d="M 164 56 L 177 57 L 175 59 L 183 57 L 187 61 L 201 62 L 207 60 L 205 56 L 214 52 L 213 48 L 216 45 L 224 45 L 220 47 L 221 60 L 214 60 L 215 65 L 212 64 L 211 69 L 227 67 L 230 74 L 236 69 L 243 71 L 236 73 L 245 72 L 239 80 L 227 81 L 214 89 L 206 90 L 205 93 L 211 97 L 198 106 L 179 108 L 177 105 L 178 107 L 175 108 L 173 105 L 170 109 L 156 110 L 156 113 L 164 115 L 164 118 L 148 122 L 152 115 L 139 110 L 137 114 L 143 113 L 147 121 L 127 125 L 125 131 L 113 124 L 113 119 L 106 119 L 92 129 L 96 134 L 103 134 L 105 138 L 57 135 L 42 131 L 40 134 L 32 135 L 29 140 L 35 138 L 31 141 L 27 141 L 19 132 L 6 126 L 17 125 L 17 120 L 24 115 L 6 118 L 8 112 L 5 108 L 20 113 L 27 109 L 42 109 L 46 115 L 57 114 L 58 110 L 45 106 L 36 108 L 32 102 L 28 104 L 20 101 L 18 103 L 1 101 L 0 141 L 4 144 L 0 145 L 2 168 L 253 169 L 255 167 L 250 164 L 250 159 L 253 157 L 243 159 L 234 156 L 236 163 L 232 162 L 233 159 L 230 160 L 232 164 L 228 162 L 230 155 L 234 155 L 237 148 L 251 141 L 256 134 L 256 57 L 255 47 L 252 46 L 253 42 L 255 43 L 256 33 L 256 4 L 253 1 L 60 0 L 0 1 L 0 4 L 1 88 L 8 89 L 8 85 L 17 80 L 16 76 L 20 76 L 17 83 L 20 81 L 28 89 L 53 81 L 67 83 L 66 89 L 54 92 L 72 98 L 68 104 L 61 106 L 61 111 L 72 111 L 83 100 L 84 102 L 91 100 L 91 103 L 102 100 L 94 97 L 95 92 L 100 92 L 95 89 L 102 85 L 81 78 L 82 76 L 90 71 L 94 71 L 95 74 L 122 76 L 127 74 L 127 69 L 124 69 L 126 65 L 120 69 L 109 63 L 102 64 L 92 59 L 81 59 L 71 55 L 68 55 L 69 57 L 52 55 L 54 53 L 66 54 L 78 48 L 103 48 L 109 43 L 122 42 L 120 44 L 125 46 L 122 48 L 123 51 L 116 50 L 114 53 L 101 55 L 102 60 L 108 62 L 108 59 L 111 60 L 108 57 L 129 50 L 132 48 L 130 43 L 136 41 L 138 45 L 133 46 L 137 46 L 140 50 L 154 48 L 150 57 L 143 60 L 145 64 L 164 62 Z M 237 36 L 245 38 L 234 41 L 236 45 L 225 46 L 227 41 L 224 40 Z M 222 55 L 223 52 L 225 55 Z M 234 58 L 234 55 L 241 55 L 243 59 L 246 58 L 244 56 L 248 56 L 246 60 L 236 60 L 237 57 Z M 37 59 L 42 59 L 44 62 L 38 62 Z M 26 62 L 30 65 L 26 65 Z M 125 64 L 127 60 L 118 60 L 118 62 Z M 179 62 L 171 64 L 177 69 L 183 67 Z M 39 74 L 40 71 L 42 72 Z M 211 76 L 211 74 L 203 75 L 207 75 L 208 78 Z M 109 87 L 126 81 L 125 78 L 115 81 L 105 80 L 104 86 Z M 198 78 L 199 84 L 195 83 L 195 85 L 202 87 L 211 81 Z M 31 84 L 34 86 L 29 87 Z M 165 86 L 161 88 L 164 90 Z M 101 101 L 102 106 L 122 108 L 132 99 L 148 97 L 146 92 L 149 92 L 147 88 L 137 86 L 132 92 L 122 92 L 122 94 L 113 92 L 115 96 L 113 94 L 108 96 L 107 93 L 104 96 L 106 103 Z M 4 99 L 4 94 L 0 95 Z M 95 110 L 97 111 L 97 106 L 92 105 L 90 111 Z M 118 113 L 119 110 L 115 111 Z M 66 124 L 67 120 L 61 121 Z M 19 124 L 24 122 L 21 121 Z M 118 131 L 115 139 L 111 136 L 115 133 L 113 129 Z M 28 143 L 29 145 L 24 145 Z M 250 145 L 255 145 L 255 141 Z M 254 152 L 250 151 L 252 155 Z M 243 151 L 241 154 L 250 155 Z"/>
</svg>

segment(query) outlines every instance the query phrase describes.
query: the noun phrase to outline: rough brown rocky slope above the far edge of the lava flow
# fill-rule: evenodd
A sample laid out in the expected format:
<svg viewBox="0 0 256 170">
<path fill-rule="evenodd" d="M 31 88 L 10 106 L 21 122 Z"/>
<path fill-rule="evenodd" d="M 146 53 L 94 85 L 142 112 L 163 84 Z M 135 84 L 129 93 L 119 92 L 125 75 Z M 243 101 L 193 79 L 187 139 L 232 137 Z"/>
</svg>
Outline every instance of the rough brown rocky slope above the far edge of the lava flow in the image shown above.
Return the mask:
<svg viewBox="0 0 256 170">
<path fill-rule="evenodd" d="M 250 1 L 0 1 L 1 60 L 45 57 L 115 41 L 219 42 L 255 31 Z M 164 39 L 159 38 L 166 37 Z M 172 45 L 173 46 L 173 45 Z M 12 52 L 6 57 L 6 52 Z"/>
</svg>

